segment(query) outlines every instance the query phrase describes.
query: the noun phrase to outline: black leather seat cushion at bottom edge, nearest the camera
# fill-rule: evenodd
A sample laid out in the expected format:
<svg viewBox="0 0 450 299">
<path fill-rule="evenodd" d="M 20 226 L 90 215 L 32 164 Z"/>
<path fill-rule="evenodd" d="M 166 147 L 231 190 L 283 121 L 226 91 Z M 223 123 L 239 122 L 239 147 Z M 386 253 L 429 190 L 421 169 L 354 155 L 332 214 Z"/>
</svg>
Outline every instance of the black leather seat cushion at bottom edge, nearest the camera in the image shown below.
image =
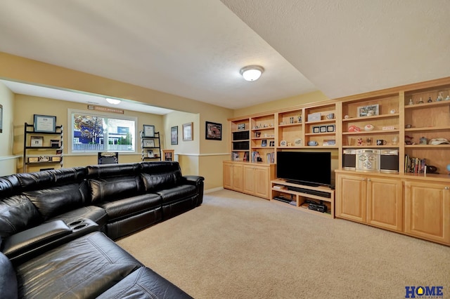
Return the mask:
<svg viewBox="0 0 450 299">
<path fill-rule="evenodd" d="M 119 281 L 118 284 L 110 288 L 105 293 L 98 296 L 100 299 L 122 299 L 122 298 L 192 298 L 182 291 L 178 286 L 172 284 L 164 277 L 153 272 L 146 267 L 129 274 Z"/>
</svg>

